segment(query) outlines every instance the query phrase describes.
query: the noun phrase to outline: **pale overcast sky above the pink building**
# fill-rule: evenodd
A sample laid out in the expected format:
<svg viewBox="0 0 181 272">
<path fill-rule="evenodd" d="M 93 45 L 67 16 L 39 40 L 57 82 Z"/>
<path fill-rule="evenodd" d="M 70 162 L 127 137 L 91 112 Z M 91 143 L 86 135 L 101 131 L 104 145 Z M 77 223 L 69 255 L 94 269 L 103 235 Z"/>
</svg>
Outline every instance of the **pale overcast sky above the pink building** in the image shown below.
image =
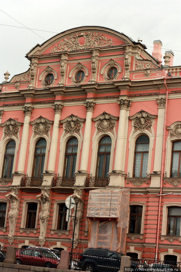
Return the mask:
<svg viewBox="0 0 181 272">
<path fill-rule="evenodd" d="M 24 56 L 36 44 L 79 26 L 111 28 L 135 41 L 142 37 L 150 54 L 153 41 L 161 40 L 162 55 L 172 50 L 173 65 L 181 65 L 180 13 L 181 0 L 1 1 L 0 82 L 7 70 L 9 79 L 28 70 L 30 62 Z"/>
</svg>

